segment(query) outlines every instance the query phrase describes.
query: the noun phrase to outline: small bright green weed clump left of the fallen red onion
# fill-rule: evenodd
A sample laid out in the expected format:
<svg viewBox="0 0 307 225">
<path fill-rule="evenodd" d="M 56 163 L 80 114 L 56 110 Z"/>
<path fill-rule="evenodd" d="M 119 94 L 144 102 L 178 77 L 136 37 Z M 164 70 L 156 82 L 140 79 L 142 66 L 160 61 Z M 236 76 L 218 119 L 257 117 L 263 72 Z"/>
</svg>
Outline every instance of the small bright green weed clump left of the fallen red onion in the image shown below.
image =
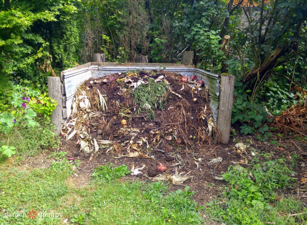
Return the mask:
<svg viewBox="0 0 307 225">
<path fill-rule="evenodd" d="M 94 169 L 94 173 L 92 177 L 96 181 L 108 181 L 118 179 L 126 176 L 131 171 L 128 170 L 127 165 L 121 165 L 119 167 L 113 167 L 113 163 L 106 163 L 104 166 L 98 166 L 98 168 Z"/>
</svg>

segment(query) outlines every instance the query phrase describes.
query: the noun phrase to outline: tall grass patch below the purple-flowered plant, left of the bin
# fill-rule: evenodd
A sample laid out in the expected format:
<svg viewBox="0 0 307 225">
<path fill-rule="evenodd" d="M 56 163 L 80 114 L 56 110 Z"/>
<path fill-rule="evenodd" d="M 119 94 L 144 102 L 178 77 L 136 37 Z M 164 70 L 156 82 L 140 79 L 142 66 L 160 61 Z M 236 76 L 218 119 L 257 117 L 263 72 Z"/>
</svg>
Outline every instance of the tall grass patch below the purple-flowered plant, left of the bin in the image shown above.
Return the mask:
<svg viewBox="0 0 307 225">
<path fill-rule="evenodd" d="M 44 119 L 37 121 L 34 128 L 16 127 L 10 134 L 9 145 L 16 148 L 17 159 L 32 157 L 41 153 L 46 148 L 59 147 L 59 140 L 53 133 L 55 126 Z M 1 145 L 7 144 L 7 135 L 0 139 Z M 1 158 L 0 158 L 1 163 Z"/>
</svg>

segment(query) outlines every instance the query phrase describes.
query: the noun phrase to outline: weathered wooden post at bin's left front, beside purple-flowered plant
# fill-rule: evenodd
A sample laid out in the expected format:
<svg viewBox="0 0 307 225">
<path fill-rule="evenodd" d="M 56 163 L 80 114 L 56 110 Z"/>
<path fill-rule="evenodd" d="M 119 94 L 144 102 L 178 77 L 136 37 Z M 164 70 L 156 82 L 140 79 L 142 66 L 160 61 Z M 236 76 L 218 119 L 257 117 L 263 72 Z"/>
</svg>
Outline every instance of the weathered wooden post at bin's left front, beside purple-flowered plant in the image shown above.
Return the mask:
<svg viewBox="0 0 307 225">
<path fill-rule="evenodd" d="M 48 77 L 48 96 L 57 102 L 56 108 L 52 111 L 50 116 L 51 122 L 56 126 L 56 134 L 59 135 L 64 124 L 63 118 L 63 94 L 62 94 L 61 77 Z"/>
</svg>

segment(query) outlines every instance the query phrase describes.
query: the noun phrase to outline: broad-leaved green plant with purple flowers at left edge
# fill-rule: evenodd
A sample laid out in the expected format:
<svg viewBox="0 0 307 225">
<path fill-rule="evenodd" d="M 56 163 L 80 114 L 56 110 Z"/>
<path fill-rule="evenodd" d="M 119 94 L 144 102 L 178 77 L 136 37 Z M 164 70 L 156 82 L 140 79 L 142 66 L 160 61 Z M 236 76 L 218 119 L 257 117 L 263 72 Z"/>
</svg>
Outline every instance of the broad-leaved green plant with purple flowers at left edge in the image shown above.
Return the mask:
<svg viewBox="0 0 307 225">
<path fill-rule="evenodd" d="M 2 154 L 10 157 L 15 154 L 15 147 L 9 145 L 10 136 L 16 136 L 13 131 L 18 129 L 19 132 L 23 133 L 33 130 L 31 132 L 33 134 L 40 132 L 41 129 L 34 130 L 34 127 L 40 126 L 39 122 L 42 122 L 37 117 L 37 113 L 40 117 L 44 117 L 45 122 L 49 121 L 49 114 L 55 109 L 56 103 L 46 93 L 40 94 L 37 89 L 22 87 L 10 81 L 6 82 L 6 88 L 1 91 L 0 134 L 1 137 L 5 135 L 3 137 L 6 138 L 6 145 L 2 145 Z M 50 126 L 46 127 L 46 131 Z M 51 134 L 51 136 L 54 138 L 54 135 Z M 49 136 L 46 137 L 48 138 Z M 42 140 L 45 140 L 46 137 L 42 138 Z M 13 140 L 13 142 L 17 141 Z"/>
</svg>

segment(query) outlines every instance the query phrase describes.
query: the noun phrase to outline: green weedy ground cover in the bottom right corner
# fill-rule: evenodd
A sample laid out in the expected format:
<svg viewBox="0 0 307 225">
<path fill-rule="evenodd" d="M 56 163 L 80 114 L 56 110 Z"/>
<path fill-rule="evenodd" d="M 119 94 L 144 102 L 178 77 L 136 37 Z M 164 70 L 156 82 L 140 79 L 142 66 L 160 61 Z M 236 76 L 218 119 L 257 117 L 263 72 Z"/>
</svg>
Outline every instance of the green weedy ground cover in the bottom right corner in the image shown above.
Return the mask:
<svg viewBox="0 0 307 225">
<path fill-rule="evenodd" d="M 207 204 L 206 211 L 211 218 L 226 224 L 304 224 L 307 214 L 289 216 L 307 211 L 301 207 L 301 202 L 291 197 L 277 197 L 278 188 L 293 186 L 290 177 L 293 172 L 285 161 L 255 159 L 250 166 L 245 169 L 230 166 L 223 174 L 230 186 L 225 188 L 222 198 Z"/>
</svg>

